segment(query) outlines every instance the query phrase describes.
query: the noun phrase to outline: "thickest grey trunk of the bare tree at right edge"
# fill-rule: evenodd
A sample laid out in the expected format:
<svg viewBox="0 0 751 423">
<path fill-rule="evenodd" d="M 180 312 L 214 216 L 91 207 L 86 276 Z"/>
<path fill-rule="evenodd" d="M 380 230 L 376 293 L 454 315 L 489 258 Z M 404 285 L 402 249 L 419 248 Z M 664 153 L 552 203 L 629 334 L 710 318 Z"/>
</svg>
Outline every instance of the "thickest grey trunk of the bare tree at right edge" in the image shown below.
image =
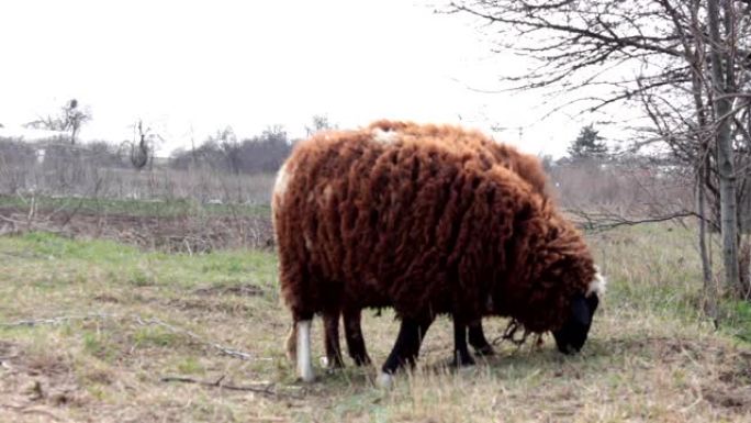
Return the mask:
<svg viewBox="0 0 751 423">
<path fill-rule="evenodd" d="M 722 65 L 730 66 L 729 55 L 724 52 L 719 29 L 719 0 L 709 0 L 707 12 L 711 41 L 711 81 L 714 88 L 715 121 L 717 124 L 717 167 L 720 190 L 720 225 L 722 232 L 722 259 L 726 286 L 733 292 L 740 291 L 738 272 L 738 221 L 736 204 L 736 175 L 733 169 L 732 140 L 730 137 L 730 101 L 727 97 L 728 81 Z M 730 8 L 732 5 L 729 5 Z M 728 13 L 726 5 L 726 14 Z M 729 31 L 731 32 L 731 31 Z"/>
</svg>

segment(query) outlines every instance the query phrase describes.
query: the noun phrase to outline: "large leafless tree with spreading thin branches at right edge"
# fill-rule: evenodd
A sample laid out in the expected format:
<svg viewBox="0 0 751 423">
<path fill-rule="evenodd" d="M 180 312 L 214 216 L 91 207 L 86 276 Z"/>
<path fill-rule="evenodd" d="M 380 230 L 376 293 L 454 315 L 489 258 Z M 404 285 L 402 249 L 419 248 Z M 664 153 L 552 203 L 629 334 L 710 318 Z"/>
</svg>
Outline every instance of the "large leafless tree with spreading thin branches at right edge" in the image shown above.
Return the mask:
<svg viewBox="0 0 751 423">
<path fill-rule="evenodd" d="M 449 10 L 490 23 L 498 52 L 534 60 L 502 80 L 543 90 L 553 111 L 637 105 L 642 113 L 629 119 L 647 123 L 629 148 L 668 153 L 690 170 L 695 212 L 721 227 L 726 287 L 736 290 L 733 204 L 747 196 L 751 163 L 751 2 L 718 1 L 464 0 Z M 702 243 L 708 232 L 702 226 Z"/>
</svg>

